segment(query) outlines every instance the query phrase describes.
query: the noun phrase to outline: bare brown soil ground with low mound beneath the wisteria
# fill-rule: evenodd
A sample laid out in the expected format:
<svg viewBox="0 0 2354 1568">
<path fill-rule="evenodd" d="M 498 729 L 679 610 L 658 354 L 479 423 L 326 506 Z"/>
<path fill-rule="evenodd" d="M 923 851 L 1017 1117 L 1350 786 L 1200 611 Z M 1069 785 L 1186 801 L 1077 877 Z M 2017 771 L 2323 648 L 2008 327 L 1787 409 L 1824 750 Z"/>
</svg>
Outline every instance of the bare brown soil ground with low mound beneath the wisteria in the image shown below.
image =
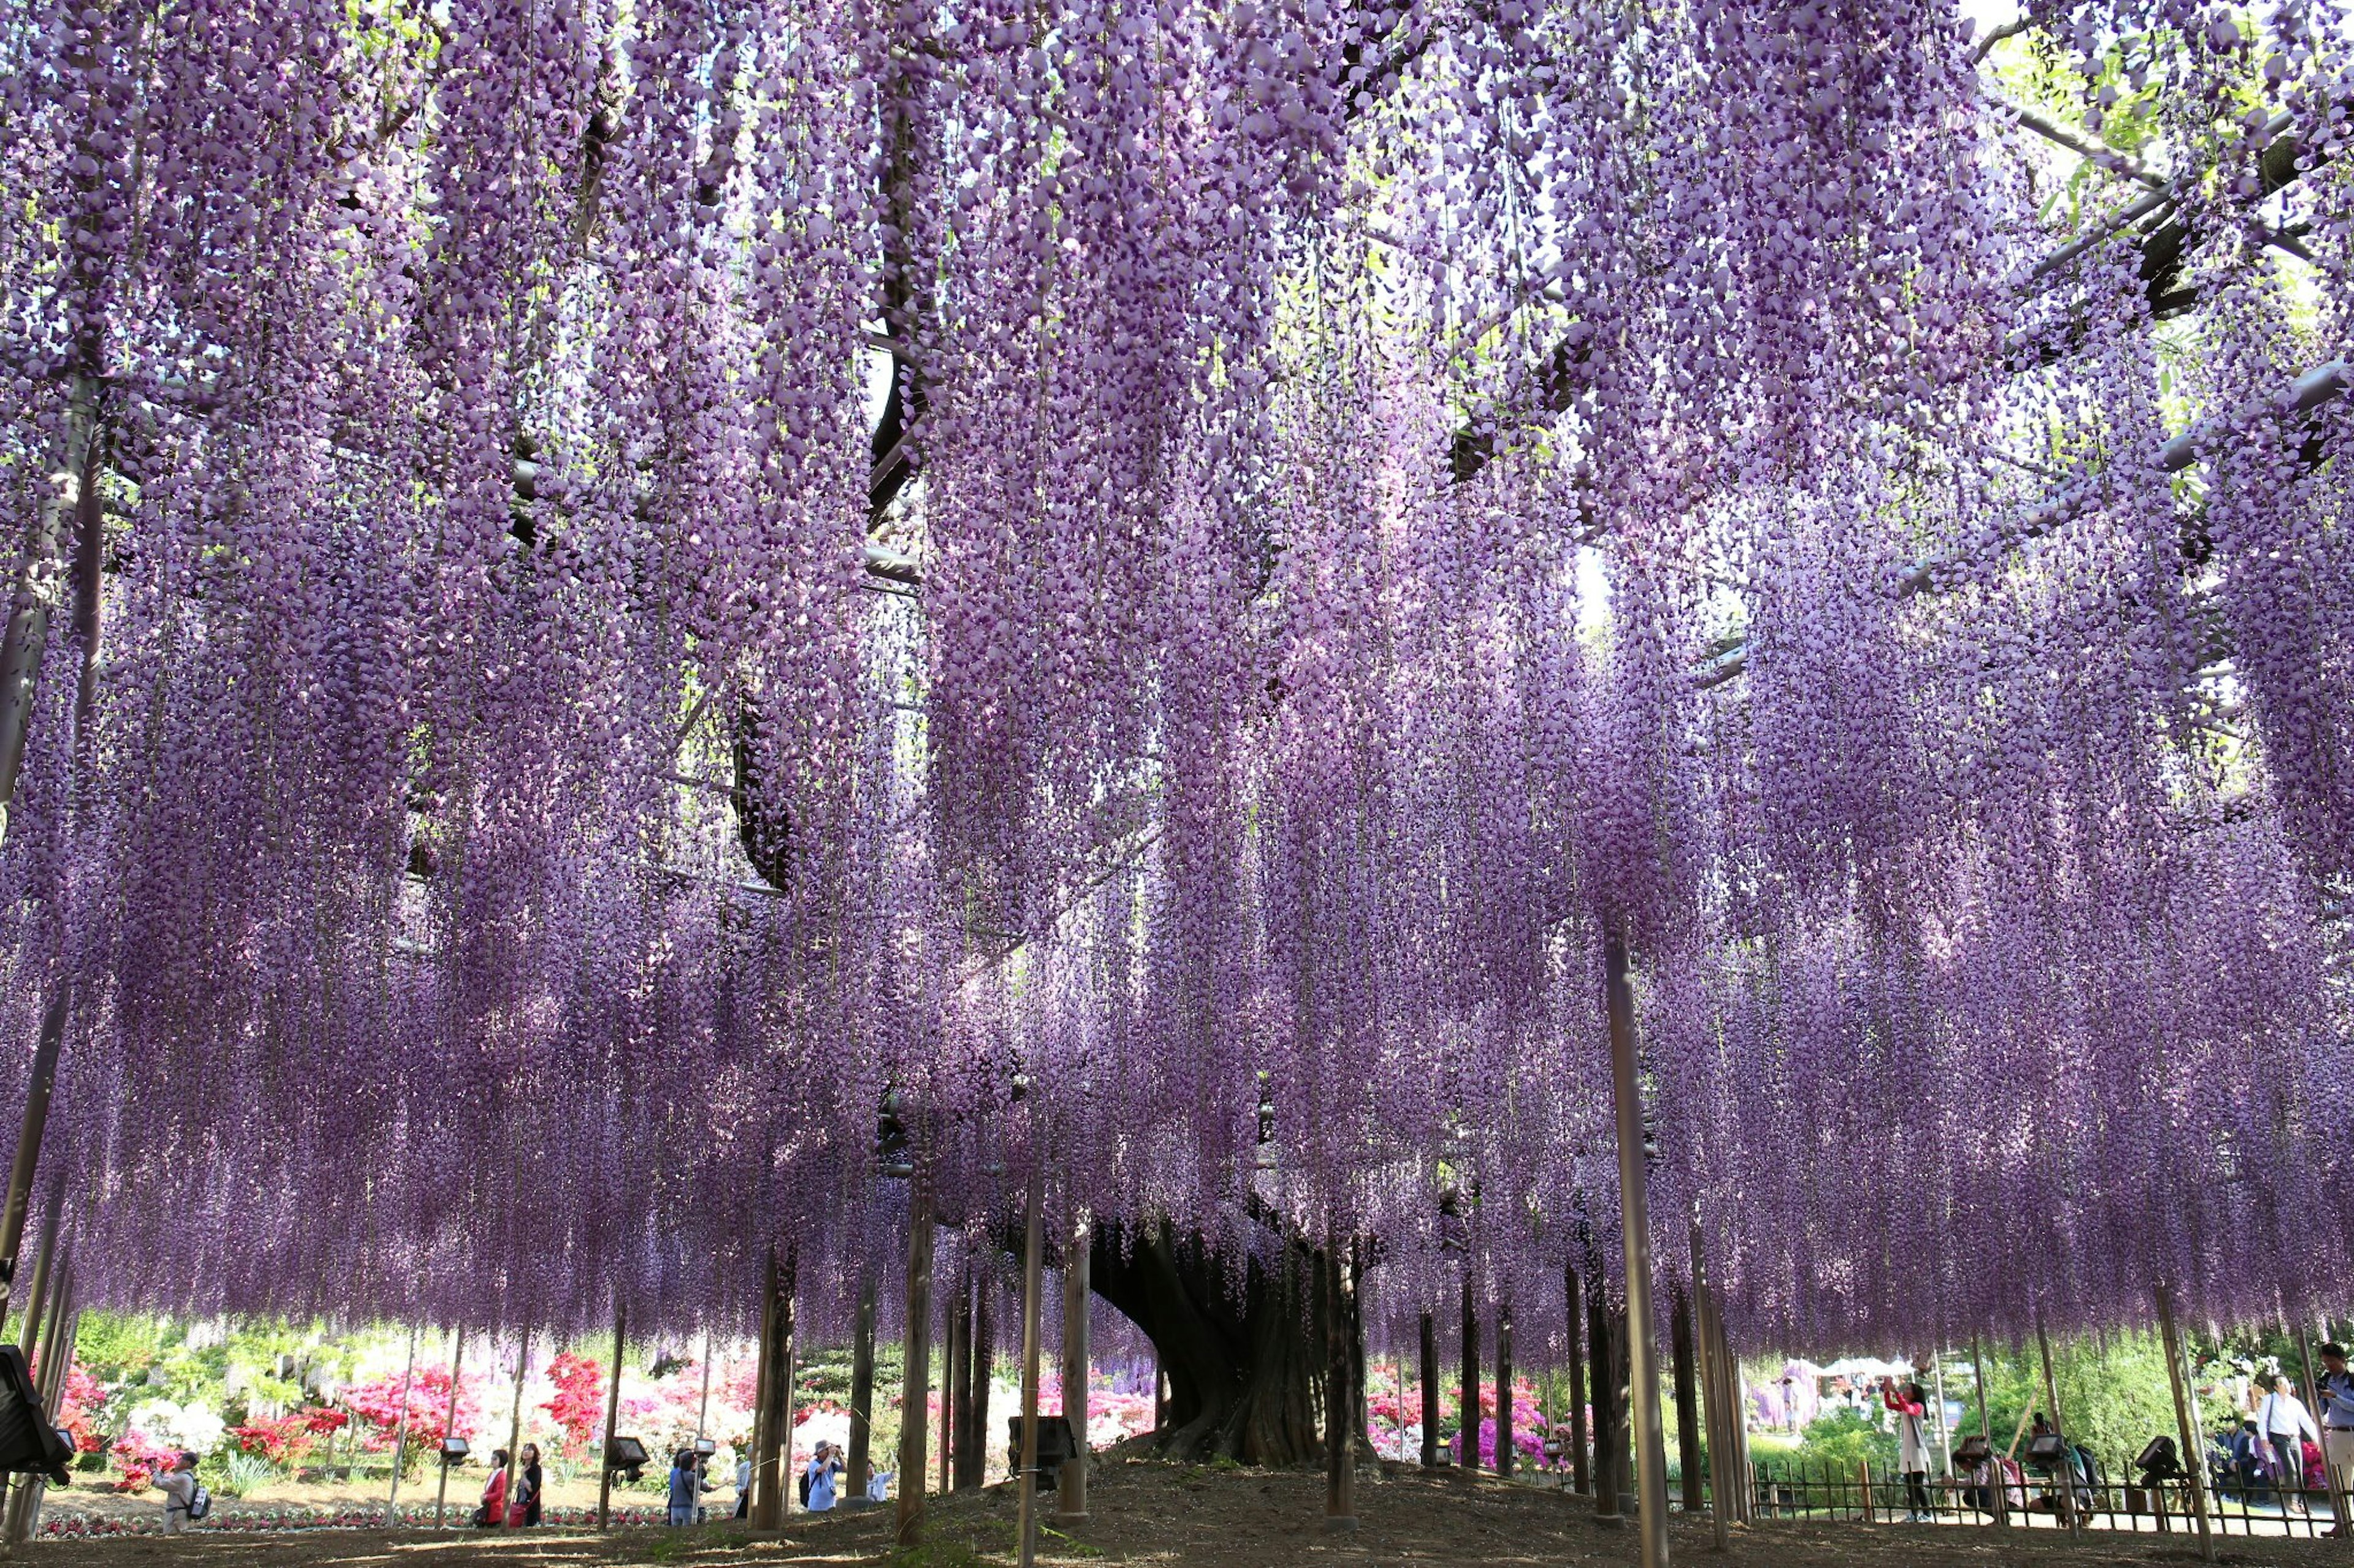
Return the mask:
<svg viewBox="0 0 2354 1568">
<path fill-rule="evenodd" d="M 1634 1563 L 1636 1537 L 1594 1521 L 1591 1504 L 1551 1488 L 1492 1479 L 1429 1476 L 1417 1469 L 1363 1471 L 1354 1535 L 1323 1523 L 1323 1479 L 1304 1471 L 1191 1467 L 1156 1460 L 1109 1460 L 1090 1483 L 1095 1516 L 1052 1526 L 1043 1519 L 1040 1563 L 1168 1563 L 1182 1568 L 1394 1568 L 1398 1563 Z M 782 1535 L 751 1535 L 732 1523 L 697 1530 L 636 1528 L 386 1533 L 214 1533 L 184 1537 L 120 1535 L 45 1540 L 28 1556 L 42 1568 L 139 1568 L 195 1561 L 202 1568 L 784 1568 L 873 1566 L 977 1568 L 1012 1563 L 1015 1497 L 1005 1486 L 932 1497 L 925 1544 L 892 1554 L 892 1509 L 796 1516 Z M 2109 1568 L 2126 1563 L 2196 1563 L 2196 1537 L 2121 1535 L 1961 1526 L 1801 1526 L 1756 1523 L 1735 1530 L 1730 1554 L 1711 1552 L 1707 1519 L 1674 1519 L 1674 1556 L 1728 1568 Z M 2354 1559 L 2333 1540 L 2220 1542 L 2232 1568 L 2321 1568 Z"/>
</svg>

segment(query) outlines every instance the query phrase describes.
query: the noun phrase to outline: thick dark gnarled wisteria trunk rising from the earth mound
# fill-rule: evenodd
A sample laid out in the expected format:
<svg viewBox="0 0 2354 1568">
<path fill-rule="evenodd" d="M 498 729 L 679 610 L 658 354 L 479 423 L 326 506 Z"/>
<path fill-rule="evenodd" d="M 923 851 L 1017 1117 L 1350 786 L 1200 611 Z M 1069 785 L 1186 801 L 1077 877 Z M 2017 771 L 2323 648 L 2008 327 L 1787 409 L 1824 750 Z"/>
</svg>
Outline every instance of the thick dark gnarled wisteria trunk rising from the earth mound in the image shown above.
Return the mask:
<svg viewBox="0 0 2354 1568">
<path fill-rule="evenodd" d="M 1095 1293 L 1144 1330 L 1168 1375 L 1161 1450 L 1198 1460 L 1226 1455 L 1243 1464 L 1314 1464 L 1325 1457 L 1321 1431 L 1330 1366 L 1330 1290 L 1318 1288 L 1321 1250 L 1285 1241 L 1241 1267 L 1198 1236 L 1168 1224 L 1146 1234 L 1095 1229 L 1088 1255 Z M 1363 1427 L 1363 1323 L 1344 1295 L 1337 1326 L 1356 1368 Z"/>
</svg>

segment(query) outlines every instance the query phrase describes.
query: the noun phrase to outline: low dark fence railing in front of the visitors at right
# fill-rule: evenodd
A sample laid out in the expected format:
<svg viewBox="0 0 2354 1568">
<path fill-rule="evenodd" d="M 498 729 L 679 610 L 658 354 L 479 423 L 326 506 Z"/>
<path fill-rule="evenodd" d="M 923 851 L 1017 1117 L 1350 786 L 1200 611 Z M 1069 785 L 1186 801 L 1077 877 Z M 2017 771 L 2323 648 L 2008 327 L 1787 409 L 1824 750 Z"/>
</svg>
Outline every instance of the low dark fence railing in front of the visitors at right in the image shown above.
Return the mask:
<svg viewBox="0 0 2354 1568">
<path fill-rule="evenodd" d="M 2027 1471 L 2008 1486 L 1963 1476 L 1907 1481 L 1871 1464 L 1758 1462 L 1758 1519 L 1857 1523 L 2088 1528 L 2192 1533 L 2199 1528 L 2189 1476 L 2123 1479 L 2097 1460 L 2076 1486 Z M 2260 1476 L 2213 1467 L 2206 1479 L 2208 1526 L 2222 1535 L 2328 1535 L 2347 1519 L 2347 1497 L 2328 1488 L 2279 1488 Z"/>
</svg>

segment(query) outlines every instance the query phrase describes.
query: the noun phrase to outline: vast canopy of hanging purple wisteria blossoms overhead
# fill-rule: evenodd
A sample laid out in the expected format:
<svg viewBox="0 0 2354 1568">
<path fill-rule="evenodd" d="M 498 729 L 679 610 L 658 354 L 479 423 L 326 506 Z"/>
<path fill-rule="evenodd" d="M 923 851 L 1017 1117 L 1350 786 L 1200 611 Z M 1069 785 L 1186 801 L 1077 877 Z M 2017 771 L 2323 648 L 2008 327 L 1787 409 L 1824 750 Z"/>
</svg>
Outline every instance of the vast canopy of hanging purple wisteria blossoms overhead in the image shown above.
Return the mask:
<svg viewBox="0 0 2354 1568">
<path fill-rule="evenodd" d="M 92 1300 L 1558 1302 L 1610 937 L 1735 1342 L 2354 1274 L 2340 7 L 0 12 Z"/>
</svg>

